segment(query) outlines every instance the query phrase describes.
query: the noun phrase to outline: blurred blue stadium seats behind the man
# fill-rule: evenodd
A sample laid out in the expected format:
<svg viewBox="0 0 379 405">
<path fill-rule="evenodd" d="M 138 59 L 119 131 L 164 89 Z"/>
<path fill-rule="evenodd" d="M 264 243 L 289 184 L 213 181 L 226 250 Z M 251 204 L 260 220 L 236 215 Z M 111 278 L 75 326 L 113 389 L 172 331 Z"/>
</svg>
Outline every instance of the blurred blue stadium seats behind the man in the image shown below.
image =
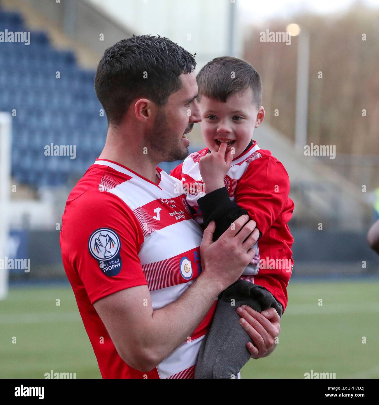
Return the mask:
<svg viewBox="0 0 379 405">
<path fill-rule="evenodd" d="M 28 31 L 18 13 L 0 11 L 0 28 Z M 0 111 L 13 113 L 12 176 L 31 186 L 56 186 L 85 173 L 100 154 L 107 119 L 94 91 L 94 70 L 81 69 L 72 51 L 51 46 L 43 31 L 30 45 L 0 47 Z M 75 145 L 76 157 L 49 159 L 45 147 Z M 164 170 L 175 163 L 163 163 Z"/>
</svg>

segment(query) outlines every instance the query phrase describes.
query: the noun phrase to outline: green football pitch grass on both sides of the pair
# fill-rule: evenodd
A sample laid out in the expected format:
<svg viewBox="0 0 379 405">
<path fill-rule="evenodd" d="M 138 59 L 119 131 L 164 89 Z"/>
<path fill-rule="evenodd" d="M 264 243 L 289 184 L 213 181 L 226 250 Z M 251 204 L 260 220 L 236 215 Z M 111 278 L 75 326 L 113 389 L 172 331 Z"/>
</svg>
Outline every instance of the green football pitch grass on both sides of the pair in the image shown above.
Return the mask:
<svg viewBox="0 0 379 405">
<path fill-rule="evenodd" d="M 291 281 L 276 350 L 249 360 L 242 378 L 304 378 L 311 370 L 378 378 L 378 289 L 377 278 Z M 45 378 L 51 370 L 101 378 L 69 285 L 11 287 L 0 301 L 0 342 L 1 378 Z"/>
</svg>

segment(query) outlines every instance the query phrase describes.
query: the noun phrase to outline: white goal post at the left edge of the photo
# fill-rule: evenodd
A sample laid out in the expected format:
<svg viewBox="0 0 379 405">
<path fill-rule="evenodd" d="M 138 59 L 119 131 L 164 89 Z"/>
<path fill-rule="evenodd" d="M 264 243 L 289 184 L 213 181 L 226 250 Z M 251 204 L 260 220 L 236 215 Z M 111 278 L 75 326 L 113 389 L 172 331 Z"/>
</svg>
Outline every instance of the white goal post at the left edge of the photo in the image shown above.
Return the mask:
<svg viewBox="0 0 379 405">
<path fill-rule="evenodd" d="M 9 239 L 11 192 L 11 114 L 0 112 L 0 300 L 8 294 L 8 270 L 5 260 Z"/>
</svg>

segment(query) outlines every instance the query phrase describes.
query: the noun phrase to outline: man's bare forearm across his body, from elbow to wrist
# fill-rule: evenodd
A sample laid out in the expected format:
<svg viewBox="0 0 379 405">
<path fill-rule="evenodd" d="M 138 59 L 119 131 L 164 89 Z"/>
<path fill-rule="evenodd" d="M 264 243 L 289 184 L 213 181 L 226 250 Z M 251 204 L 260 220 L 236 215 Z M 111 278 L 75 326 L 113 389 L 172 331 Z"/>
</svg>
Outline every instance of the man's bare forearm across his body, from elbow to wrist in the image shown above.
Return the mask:
<svg viewBox="0 0 379 405">
<path fill-rule="evenodd" d="M 206 275 L 200 275 L 178 300 L 152 313 L 146 341 L 153 346 L 150 351 L 154 352 L 154 367 L 188 340 L 222 289 Z"/>
</svg>

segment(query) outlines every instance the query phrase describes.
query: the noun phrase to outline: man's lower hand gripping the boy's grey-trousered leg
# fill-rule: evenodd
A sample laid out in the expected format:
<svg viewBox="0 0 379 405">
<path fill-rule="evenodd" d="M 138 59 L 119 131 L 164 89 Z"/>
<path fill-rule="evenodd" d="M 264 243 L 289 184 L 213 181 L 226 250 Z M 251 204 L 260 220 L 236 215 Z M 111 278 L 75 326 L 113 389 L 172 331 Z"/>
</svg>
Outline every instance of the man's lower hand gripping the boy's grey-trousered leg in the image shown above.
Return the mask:
<svg viewBox="0 0 379 405">
<path fill-rule="evenodd" d="M 267 311 L 259 313 L 247 305 L 242 305 L 236 311 L 241 317 L 240 324 L 242 328 L 246 330 L 246 333 L 254 342 L 254 345 L 251 343 L 246 345 L 251 358 L 266 357 L 272 353 L 277 344 L 275 338 L 281 330 L 281 318 L 276 309 L 269 308 Z"/>
</svg>

